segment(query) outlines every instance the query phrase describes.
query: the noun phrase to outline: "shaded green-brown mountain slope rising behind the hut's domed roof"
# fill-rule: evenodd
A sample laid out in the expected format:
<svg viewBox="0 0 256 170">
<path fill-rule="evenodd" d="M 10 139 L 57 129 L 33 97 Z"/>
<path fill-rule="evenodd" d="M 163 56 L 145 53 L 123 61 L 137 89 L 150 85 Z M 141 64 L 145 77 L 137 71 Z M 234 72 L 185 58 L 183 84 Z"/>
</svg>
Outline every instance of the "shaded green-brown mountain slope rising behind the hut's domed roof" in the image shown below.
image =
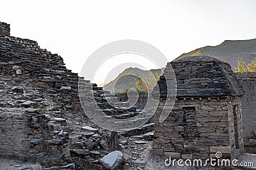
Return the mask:
<svg viewBox="0 0 256 170">
<path fill-rule="evenodd" d="M 199 55 L 215 57 L 216 59 L 228 62 L 234 68 L 237 67 L 237 61 L 240 59 L 249 63 L 252 59 L 256 58 L 256 39 L 226 40 L 217 46 L 205 46 L 192 52 L 183 53 L 175 60 Z"/>
</svg>

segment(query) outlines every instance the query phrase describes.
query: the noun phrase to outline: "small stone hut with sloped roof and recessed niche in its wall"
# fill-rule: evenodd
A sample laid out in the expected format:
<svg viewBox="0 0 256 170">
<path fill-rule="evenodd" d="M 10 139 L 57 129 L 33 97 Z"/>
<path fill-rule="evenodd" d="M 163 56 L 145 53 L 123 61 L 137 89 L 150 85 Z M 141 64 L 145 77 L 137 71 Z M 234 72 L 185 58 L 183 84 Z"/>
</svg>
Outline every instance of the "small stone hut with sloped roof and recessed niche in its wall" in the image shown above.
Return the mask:
<svg viewBox="0 0 256 170">
<path fill-rule="evenodd" d="M 159 123 L 168 100 L 165 77 L 172 72 L 171 64 L 177 97 L 170 115 Z M 152 152 L 173 159 L 203 160 L 215 157 L 216 152 L 229 159 L 241 154 L 243 92 L 229 64 L 212 57 L 187 57 L 168 62 L 164 75 L 158 81 L 160 102 Z"/>
</svg>

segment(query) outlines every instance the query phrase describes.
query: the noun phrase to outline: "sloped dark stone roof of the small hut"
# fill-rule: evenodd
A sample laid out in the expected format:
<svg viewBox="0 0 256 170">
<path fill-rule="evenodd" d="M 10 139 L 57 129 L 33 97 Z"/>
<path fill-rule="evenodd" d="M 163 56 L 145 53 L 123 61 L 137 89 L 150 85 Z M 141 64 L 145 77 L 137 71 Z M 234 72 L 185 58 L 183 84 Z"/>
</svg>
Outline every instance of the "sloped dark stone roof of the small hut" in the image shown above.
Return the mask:
<svg viewBox="0 0 256 170">
<path fill-rule="evenodd" d="M 171 66 L 172 65 L 172 66 Z M 213 57 L 186 57 L 168 62 L 164 75 L 173 67 L 177 97 L 241 96 L 243 90 L 229 64 Z M 172 71 L 171 71 L 172 72 Z M 160 97 L 167 96 L 166 80 L 158 81 Z"/>
</svg>

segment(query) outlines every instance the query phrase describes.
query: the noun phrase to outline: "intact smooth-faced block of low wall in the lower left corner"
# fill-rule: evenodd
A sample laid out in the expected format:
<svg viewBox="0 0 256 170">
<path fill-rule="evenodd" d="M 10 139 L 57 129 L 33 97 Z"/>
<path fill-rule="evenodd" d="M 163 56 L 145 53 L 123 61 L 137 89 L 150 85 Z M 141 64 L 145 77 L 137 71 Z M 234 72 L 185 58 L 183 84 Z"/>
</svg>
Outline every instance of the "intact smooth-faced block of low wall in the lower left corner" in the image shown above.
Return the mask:
<svg viewBox="0 0 256 170">
<path fill-rule="evenodd" d="M 0 108 L 0 131 L 0 157 L 28 160 L 29 127 L 25 111 Z"/>
</svg>

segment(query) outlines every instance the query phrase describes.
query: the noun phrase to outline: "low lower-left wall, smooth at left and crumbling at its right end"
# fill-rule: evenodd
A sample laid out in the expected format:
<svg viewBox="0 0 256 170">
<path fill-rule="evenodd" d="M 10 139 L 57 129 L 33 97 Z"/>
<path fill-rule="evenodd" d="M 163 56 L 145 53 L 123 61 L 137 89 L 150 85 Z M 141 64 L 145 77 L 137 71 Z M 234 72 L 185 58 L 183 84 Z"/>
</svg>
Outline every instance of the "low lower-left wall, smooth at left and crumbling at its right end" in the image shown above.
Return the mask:
<svg viewBox="0 0 256 170">
<path fill-rule="evenodd" d="M 65 124 L 65 119 L 52 119 L 40 110 L 0 108 L 0 157 L 38 162 L 45 166 L 69 159 L 67 132 L 52 140 L 52 132 L 57 130 L 54 127 L 60 121 Z"/>
</svg>

